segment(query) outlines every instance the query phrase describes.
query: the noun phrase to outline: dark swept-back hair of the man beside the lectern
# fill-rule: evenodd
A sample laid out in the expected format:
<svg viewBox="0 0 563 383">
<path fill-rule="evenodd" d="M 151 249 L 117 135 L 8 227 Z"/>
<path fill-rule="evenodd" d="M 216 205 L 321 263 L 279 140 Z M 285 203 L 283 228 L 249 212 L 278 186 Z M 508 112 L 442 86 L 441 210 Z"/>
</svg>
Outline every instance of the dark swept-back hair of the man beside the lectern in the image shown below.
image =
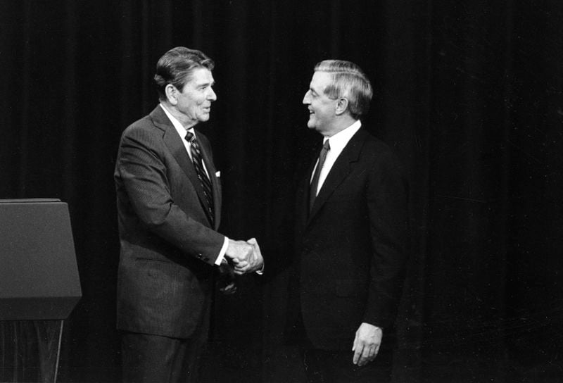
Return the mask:
<svg viewBox="0 0 563 383">
<path fill-rule="evenodd" d="M 156 63 L 156 75 L 154 83 L 158 91 L 158 98 L 166 100 L 165 88 L 167 84 L 172 84 L 182 92 L 186 82 L 191 80 L 191 75 L 197 68 L 207 68 L 213 70 L 215 63 L 202 51 L 189 49 L 185 46 L 177 46 L 170 49 Z"/>
</svg>

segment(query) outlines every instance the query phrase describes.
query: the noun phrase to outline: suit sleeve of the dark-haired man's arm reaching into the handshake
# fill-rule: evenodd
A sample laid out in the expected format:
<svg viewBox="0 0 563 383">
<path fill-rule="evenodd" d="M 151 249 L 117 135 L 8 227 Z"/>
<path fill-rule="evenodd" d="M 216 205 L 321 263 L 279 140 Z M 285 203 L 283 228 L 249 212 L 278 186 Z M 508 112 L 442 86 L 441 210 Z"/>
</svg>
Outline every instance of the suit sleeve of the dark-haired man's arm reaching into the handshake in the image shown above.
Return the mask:
<svg viewBox="0 0 563 383">
<path fill-rule="evenodd" d="M 148 230 L 213 265 L 224 236 L 194 220 L 172 199 L 163 162 L 165 149 L 154 136 L 141 128 L 126 130 L 122 136 L 117 170 L 132 210 Z"/>
</svg>

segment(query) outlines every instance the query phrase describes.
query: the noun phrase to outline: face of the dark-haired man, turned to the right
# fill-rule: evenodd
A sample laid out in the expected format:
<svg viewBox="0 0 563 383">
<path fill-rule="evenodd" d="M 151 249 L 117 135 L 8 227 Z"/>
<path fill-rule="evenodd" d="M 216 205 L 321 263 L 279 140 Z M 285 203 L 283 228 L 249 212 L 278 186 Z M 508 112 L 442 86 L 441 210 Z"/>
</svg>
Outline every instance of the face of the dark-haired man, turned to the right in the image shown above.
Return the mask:
<svg viewBox="0 0 563 383">
<path fill-rule="evenodd" d="M 175 89 L 173 104 L 178 113 L 176 118 L 184 127 L 192 127 L 209 120 L 211 103 L 217 99 L 213 92 L 213 75 L 207 68 L 197 68 L 191 73 L 182 92 Z"/>
</svg>

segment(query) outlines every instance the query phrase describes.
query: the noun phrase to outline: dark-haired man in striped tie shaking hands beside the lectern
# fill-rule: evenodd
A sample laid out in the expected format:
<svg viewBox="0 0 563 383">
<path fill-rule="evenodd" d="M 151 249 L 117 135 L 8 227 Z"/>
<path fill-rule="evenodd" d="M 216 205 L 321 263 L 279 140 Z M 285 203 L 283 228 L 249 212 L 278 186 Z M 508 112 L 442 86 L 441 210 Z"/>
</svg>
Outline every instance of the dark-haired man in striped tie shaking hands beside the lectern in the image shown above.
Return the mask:
<svg viewBox="0 0 563 383">
<path fill-rule="evenodd" d="M 117 322 L 126 382 L 194 382 L 214 275 L 262 267 L 254 241 L 217 232 L 221 187 L 208 139 L 213 61 L 171 49 L 157 63 L 160 105 L 123 132 L 115 165 L 120 263 Z M 233 289 L 232 282 L 227 291 Z"/>
</svg>

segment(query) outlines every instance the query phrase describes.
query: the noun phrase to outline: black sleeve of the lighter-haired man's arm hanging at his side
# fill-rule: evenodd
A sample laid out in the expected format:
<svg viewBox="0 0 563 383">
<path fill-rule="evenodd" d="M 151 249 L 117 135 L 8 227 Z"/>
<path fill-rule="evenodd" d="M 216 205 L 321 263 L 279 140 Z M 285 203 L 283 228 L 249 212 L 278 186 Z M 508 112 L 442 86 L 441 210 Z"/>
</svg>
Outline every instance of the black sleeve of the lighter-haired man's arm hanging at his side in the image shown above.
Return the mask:
<svg viewBox="0 0 563 383">
<path fill-rule="evenodd" d="M 376 161 L 367 184 L 373 259 L 364 321 L 391 327 L 403 288 L 408 244 L 408 187 L 391 152 Z"/>
</svg>

